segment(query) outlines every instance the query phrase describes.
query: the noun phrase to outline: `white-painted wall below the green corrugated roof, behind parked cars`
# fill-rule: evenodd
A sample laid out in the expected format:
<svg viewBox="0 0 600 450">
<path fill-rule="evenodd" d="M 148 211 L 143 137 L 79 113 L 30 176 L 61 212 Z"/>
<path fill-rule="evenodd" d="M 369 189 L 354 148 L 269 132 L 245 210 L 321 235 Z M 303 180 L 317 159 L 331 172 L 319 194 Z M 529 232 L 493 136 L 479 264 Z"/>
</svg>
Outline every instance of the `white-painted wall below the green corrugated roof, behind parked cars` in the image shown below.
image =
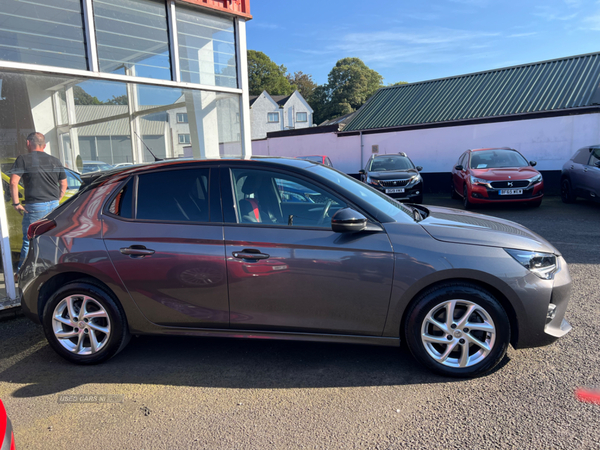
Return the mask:
<svg viewBox="0 0 600 450">
<path fill-rule="evenodd" d="M 550 117 L 480 125 L 337 137 L 323 133 L 252 142 L 252 153 L 271 156 L 327 155 L 334 167 L 357 173 L 371 155 L 406 152 L 423 172 L 450 172 L 458 157 L 469 148 L 511 147 L 527 160 L 537 161 L 539 170 L 560 170 L 571 155 L 586 145 L 600 144 L 600 114 Z"/>
</svg>

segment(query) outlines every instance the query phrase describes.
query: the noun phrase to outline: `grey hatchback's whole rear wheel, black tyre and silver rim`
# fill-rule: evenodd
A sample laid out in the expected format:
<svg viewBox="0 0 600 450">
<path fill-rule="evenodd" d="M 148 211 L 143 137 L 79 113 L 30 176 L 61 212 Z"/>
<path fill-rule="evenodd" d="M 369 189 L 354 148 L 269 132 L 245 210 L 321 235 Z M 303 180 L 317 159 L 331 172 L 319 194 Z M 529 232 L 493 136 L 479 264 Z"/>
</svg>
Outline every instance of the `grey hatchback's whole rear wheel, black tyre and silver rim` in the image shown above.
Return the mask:
<svg viewBox="0 0 600 450">
<path fill-rule="evenodd" d="M 50 346 L 77 364 L 97 364 L 113 357 L 130 337 L 116 299 L 89 280 L 56 291 L 44 307 L 42 324 Z"/>
</svg>

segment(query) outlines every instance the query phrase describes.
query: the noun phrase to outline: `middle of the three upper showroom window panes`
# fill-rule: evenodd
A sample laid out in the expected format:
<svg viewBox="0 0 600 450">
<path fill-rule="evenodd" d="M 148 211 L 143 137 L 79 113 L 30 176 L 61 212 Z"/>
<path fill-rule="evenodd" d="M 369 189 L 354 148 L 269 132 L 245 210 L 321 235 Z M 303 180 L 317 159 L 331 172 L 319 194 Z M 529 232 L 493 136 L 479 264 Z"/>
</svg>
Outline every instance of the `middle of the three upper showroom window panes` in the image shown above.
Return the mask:
<svg viewBox="0 0 600 450">
<path fill-rule="evenodd" d="M 102 72 L 171 79 L 164 1 L 94 0 Z"/>
</svg>

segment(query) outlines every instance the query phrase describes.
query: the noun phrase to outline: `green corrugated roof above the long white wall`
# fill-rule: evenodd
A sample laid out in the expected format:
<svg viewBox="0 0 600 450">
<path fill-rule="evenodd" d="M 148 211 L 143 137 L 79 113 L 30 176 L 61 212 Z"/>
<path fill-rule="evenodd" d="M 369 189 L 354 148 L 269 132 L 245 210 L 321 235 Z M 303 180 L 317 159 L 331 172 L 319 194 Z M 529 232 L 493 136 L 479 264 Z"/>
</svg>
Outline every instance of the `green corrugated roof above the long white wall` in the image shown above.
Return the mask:
<svg viewBox="0 0 600 450">
<path fill-rule="evenodd" d="M 346 131 L 372 130 L 600 104 L 600 53 L 379 89 Z"/>
</svg>

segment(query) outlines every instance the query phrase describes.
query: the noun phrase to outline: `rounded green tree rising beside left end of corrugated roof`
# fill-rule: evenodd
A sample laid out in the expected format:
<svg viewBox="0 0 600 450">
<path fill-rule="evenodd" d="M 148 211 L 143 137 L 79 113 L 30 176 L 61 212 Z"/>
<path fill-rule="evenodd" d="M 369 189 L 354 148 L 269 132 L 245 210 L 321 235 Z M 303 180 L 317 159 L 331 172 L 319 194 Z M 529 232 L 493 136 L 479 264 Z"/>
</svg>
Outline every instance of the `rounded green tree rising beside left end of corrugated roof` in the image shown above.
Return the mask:
<svg viewBox="0 0 600 450">
<path fill-rule="evenodd" d="M 328 118 L 356 111 L 382 85 L 383 77 L 360 59 L 340 59 L 327 77 Z"/>
</svg>

